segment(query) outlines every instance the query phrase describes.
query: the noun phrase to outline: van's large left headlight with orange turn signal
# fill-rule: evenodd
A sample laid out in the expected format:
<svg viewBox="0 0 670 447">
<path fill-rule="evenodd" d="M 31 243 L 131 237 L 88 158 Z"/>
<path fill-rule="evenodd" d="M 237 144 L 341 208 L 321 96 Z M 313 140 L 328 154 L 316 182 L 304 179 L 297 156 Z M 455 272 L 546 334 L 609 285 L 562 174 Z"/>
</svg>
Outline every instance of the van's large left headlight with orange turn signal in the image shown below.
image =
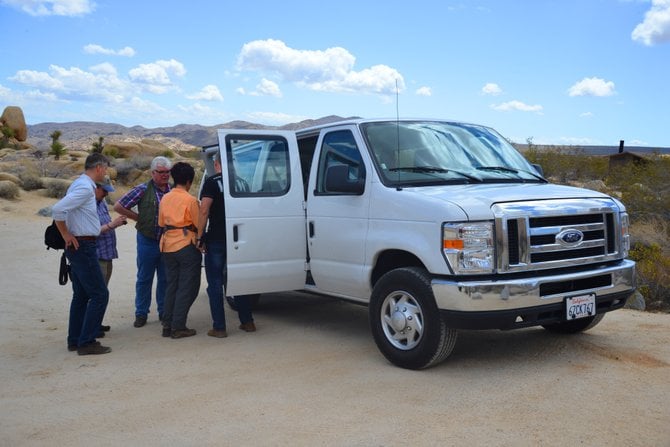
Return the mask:
<svg viewBox="0 0 670 447">
<path fill-rule="evenodd" d="M 493 273 L 493 222 L 444 224 L 442 252 L 457 275 Z"/>
</svg>

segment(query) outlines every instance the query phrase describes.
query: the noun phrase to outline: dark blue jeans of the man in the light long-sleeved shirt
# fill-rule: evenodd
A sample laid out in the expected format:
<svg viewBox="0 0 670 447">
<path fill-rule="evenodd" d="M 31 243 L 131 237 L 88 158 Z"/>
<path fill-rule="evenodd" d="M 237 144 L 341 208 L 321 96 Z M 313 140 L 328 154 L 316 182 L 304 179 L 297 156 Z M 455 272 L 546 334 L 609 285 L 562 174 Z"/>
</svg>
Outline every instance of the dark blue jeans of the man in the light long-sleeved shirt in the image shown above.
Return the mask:
<svg viewBox="0 0 670 447">
<path fill-rule="evenodd" d="M 72 302 L 67 334 L 68 346 L 84 346 L 95 341 L 107 310 L 109 291 L 98 264 L 95 241 L 79 240 L 77 250 L 65 250 L 70 261 Z"/>
</svg>

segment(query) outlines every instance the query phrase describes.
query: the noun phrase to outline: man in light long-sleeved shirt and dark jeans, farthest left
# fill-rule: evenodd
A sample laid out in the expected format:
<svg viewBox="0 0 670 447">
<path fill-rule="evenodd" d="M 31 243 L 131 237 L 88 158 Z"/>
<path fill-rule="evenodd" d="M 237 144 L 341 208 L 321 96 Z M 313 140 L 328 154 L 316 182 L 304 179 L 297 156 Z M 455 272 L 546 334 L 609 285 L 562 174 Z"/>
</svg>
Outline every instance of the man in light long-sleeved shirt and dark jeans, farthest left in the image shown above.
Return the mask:
<svg viewBox="0 0 670 447">
<path fill-rule="evenodd" d="M 96 183 L 107 174 L 109 161 L 99 153 L 86 157 L 85 172 L 52 209 L 56 226 L 65 240 L 70 261 L 72 302 L 67 346 L 79 355 L 107 354 L 111 348 L 96 341 L 105 316 L 109 291 L 98 264 L 96 240 L 100 234 L 95 200 Z"/>
</svg>

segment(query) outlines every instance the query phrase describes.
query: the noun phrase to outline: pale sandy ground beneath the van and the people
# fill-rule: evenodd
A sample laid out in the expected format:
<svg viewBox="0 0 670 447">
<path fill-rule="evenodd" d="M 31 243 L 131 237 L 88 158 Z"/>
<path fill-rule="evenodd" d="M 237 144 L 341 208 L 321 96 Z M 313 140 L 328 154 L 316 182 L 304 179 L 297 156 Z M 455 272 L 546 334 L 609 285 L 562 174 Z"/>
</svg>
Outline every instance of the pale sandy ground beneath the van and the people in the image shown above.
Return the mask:
<svg viewBox="0 0 670 447">
<path fill-rule="evenodd" d="M 258 332 L 132 327 L 134 230 L 119 233 L 104 344 L 66 349 L 71 288 L 45 251 L 39 192 L 0 200 L 1 445 L 669 446 L 670 318 L 620 310 L 592 331 L 464 332 L 452 356 L 406 371 L 378 353 L 366 309 L 264 296 Z M 204 284 L 204 275 L 203 275 Z"/>
</svg>

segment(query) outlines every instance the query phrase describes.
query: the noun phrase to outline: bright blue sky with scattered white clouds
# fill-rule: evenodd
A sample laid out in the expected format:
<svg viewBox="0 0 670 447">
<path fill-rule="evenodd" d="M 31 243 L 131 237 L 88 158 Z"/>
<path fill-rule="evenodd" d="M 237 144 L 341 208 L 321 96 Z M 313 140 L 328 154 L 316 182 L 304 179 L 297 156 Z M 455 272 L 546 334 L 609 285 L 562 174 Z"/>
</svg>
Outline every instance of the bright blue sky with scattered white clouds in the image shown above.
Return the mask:
<svg viewBox="0 0 670 447">
<path fill-rule="evenodd" d="M 29 124 L 397 107 L 519 143 L 670 147 L 670 0 L 0 0 L 0 30 L 0 109 Z"/>
</svg>

